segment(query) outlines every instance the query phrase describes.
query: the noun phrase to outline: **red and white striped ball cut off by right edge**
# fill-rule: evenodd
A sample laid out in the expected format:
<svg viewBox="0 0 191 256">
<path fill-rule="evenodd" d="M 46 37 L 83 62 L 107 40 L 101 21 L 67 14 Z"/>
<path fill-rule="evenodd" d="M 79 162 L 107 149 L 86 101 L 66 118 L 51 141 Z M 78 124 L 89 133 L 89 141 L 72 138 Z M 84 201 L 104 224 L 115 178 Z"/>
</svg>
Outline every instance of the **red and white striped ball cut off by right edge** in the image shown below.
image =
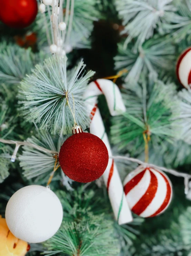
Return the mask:
<svg viewBox="0 0 191 256">
<path fill-rule="evenodd" d="M 179 57 L 176 67 L 177 78 L 185 88 L 191 88 L 191 47 Z"/>
</svg>

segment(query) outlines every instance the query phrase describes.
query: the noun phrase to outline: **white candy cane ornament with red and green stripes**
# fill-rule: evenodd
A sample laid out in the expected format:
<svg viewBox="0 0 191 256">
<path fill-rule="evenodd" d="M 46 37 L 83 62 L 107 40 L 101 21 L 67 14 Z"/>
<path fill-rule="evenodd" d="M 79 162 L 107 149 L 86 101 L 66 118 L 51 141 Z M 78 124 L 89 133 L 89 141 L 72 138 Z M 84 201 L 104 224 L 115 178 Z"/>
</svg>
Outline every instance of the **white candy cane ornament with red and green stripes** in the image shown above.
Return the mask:
<svg viewBox="0 0 191 256">
<path fill-rule="evenodd" d="M 125 106 L 123 104 L 119 88 L 117 85 L 115 85 L 115 83 L 107 79 L 98 79 L 91 82 L 84 94 L 88 111 L 91 113 L 90 133 L 103 140 L 107 146 L 109 156 L 111 156 L 112 153 L 110 143 L 108 136 L 105 133 L 103 121 L 97 106 L 97 99 L 101 94 L 105 95 L 109 111 L 112 116 L 119 115 L 120 112 L 124 112 Z M 111 158 L 109 159 L 108 166 L 103 174 L 103 179 L 105 186 L 107 187 L 115 218 L 118 220 L 118 223 L 121 225 L 131 222 L 133 218 L 127 200 L 125 199 L 123 185 L 121 183 L 117 166 Z"/>
</svg>

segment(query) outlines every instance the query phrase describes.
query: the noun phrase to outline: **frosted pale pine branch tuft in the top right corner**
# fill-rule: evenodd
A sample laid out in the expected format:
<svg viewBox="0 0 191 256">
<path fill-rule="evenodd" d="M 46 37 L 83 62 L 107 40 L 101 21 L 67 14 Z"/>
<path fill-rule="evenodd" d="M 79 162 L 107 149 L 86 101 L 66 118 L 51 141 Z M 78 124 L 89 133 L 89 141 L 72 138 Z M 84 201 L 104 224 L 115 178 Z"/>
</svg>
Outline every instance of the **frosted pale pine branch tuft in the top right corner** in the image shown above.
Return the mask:
<svg viewBox="0 0 191 256">
<path fill-rule="evenodd" d="M 173 28 L 190 26 L 190 14 L 182 5 L 176 7 L 172 0 L 116 0 L 119 17 L 123 19 L 124 30 L 122 34 L 128 34 L 124 42 L 126 48 L 132 38 L 136 38 L 135 49 L 139 48 L 146 39 L 153 36 L 156 29 L 160 35 L 173 31 Z M 177 13 L 180 10 L 180 15 Z M 181 16 L 182 15 L 182 16 Z M 177 25 L 172 26 L 172 23 Z M 186 28 L 187 32 L 190 27 Z"/>
</svg>

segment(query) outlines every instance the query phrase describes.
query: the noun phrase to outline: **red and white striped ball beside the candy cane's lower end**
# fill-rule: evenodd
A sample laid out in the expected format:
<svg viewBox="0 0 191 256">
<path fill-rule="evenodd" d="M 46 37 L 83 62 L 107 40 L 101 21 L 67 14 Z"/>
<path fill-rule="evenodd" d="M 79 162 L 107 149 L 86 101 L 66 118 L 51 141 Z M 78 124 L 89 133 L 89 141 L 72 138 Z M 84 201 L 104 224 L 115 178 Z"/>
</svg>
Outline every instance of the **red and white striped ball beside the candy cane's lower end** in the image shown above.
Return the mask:
<svg viewBox="0 0 191 256">
<path fill-rule="evenodd" d="M 131 211 L 144 218 L 161 214 L 172 199 L 170 179 L 158 169 L 139 166 L 123 185 Z"/>
</svg>

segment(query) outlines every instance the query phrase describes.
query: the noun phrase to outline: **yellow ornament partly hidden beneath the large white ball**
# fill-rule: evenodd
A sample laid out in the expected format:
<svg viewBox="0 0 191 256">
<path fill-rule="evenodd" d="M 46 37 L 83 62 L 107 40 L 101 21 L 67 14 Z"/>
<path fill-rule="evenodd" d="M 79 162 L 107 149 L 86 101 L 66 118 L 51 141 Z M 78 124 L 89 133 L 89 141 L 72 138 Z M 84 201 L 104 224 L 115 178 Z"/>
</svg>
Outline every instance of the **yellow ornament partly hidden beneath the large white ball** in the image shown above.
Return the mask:
<svg viewBox="0 0 191 256">
<path fill-rule="evenodd" d="M 0 215 L 0 255 L 1 256 L 24 256 L 30 250 L 30 245 L 11 233 L 6 220 Z"/>
</svg>

